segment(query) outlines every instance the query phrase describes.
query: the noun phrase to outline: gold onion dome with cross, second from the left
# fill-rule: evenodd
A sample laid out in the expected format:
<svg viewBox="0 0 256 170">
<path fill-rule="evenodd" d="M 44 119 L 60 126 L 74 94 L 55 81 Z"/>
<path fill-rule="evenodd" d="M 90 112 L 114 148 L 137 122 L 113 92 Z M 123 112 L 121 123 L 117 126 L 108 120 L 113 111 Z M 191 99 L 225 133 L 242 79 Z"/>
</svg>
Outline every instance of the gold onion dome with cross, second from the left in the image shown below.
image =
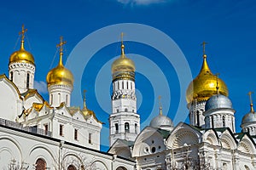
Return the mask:
<svg viewBox="0 0 256 170">
<path fill-rule="evenodd" d="M 62 46 L 66 42 L 62 42 L 62 37 L 61 37 L 61 42 L 60 44 L 57 45 L 57 47 L 60 47 L 60 61 L 59 64 L 49 71 L 46 77 L 46 82 L 48 86 L 53 85 L 53 84 L 58 84 L 58 85 L 69 85 L 73 87 L 73 74 L 71 71 L 69 71 L 67 68 L 64 67 L 62 64 Z"/>
</svg>

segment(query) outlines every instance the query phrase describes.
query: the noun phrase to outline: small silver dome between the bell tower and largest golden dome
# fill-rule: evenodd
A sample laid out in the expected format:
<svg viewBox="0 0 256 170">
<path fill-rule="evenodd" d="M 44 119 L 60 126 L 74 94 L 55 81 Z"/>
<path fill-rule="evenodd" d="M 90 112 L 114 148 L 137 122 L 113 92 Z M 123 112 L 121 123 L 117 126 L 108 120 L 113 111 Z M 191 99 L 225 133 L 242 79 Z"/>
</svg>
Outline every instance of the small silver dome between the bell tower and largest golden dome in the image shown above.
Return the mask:
<svg viewBox="0 0 256 170">
<path fill-rule="evenodd" d="M 173 123 L 169 117 L 164 116 L 164 115 L 159 115 L 159 116 L 154 117 L 154 119 L 152 119 L 149 126 L 156 127 L 156 128 L 173 127 Z"/>
</svg>

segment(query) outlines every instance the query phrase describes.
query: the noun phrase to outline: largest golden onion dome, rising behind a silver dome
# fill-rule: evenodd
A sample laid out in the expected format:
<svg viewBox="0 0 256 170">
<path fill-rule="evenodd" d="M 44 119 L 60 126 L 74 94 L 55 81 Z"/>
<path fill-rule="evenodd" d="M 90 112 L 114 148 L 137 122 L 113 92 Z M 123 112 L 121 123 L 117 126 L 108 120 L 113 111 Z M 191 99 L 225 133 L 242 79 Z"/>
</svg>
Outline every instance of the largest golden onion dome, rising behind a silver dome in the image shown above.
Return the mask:
<svg viewBox="0 0 256 170">
<path fill-rule="evenodd" d="M 217 94 L 217 86 L 219 94 L 229 95 L 229 90 L 224 81 L 218 78 L 217 85 L 217 77 L 212 74 L 212 71 L 207 65 L 207 55 L 204 54 L 201 71 L 193 82 L 190 82 L 189 88 L 187 89 L 187 102 L 191 103 L 193 99 L 197 99 L 197 101 L 209 99 L 212 95 Z"/>
</svg>

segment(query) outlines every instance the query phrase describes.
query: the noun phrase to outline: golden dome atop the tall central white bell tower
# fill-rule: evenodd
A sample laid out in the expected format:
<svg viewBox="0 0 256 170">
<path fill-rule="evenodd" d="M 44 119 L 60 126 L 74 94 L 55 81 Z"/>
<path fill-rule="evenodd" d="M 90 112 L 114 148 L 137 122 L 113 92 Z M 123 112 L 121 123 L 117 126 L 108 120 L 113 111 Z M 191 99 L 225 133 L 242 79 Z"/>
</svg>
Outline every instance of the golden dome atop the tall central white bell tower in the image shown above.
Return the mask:
<svg viewBox="0 0 256 170">
<path fill-rule="evenodd" d="M 119 59 L 115 59 L 111 66 L 112 74 L 117 71 L 135 71 L 135 64 L 125 56 L 125 45 L 122 43 L 122 53 Z"/>
</svg>

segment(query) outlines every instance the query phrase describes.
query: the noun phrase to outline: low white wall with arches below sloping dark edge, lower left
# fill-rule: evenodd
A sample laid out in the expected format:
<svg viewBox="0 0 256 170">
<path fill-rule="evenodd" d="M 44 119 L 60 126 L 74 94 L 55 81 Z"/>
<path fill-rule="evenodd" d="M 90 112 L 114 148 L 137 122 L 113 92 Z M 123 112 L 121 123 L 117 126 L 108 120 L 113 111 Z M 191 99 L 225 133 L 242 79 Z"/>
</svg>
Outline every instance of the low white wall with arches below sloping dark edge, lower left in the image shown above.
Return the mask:
<svg viewBox="0 0 256 170">
<path fill-rule="evenodd" d="M 132 170 L 135 164 L 96 150 L 86 150 L 56 139 L 21 133 L 5 127 L 0 127 L 0 144 L 0 169 L 9 169 L 11 160 L 15 160 L 16 166 L 23 164 L 24 167 L 33 169 L 39 158 L 46 161 L 48 169 L 59 169 L 61 163 L 66 166 L 72 163 L 79 168 L 83 163 L 87 168 L 110 170 L 125 167 Z"/>
</svg>

